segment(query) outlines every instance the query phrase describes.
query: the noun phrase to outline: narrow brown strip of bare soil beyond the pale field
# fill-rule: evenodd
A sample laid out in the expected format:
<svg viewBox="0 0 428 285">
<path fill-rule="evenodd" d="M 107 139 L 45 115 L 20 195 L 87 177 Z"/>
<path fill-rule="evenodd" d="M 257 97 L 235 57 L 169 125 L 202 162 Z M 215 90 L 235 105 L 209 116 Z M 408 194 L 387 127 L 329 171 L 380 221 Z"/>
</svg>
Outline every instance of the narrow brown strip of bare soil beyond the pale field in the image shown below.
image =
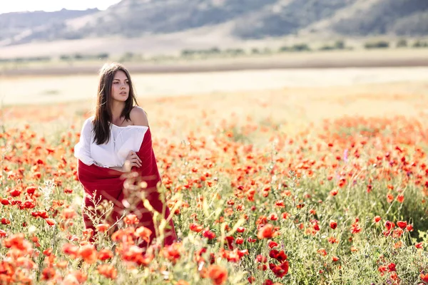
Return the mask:
<svg viewBox="0 0 428 285">
<path fill-rule="evenodd" d="M 1 53 L 1 50 L 0 50 Z M 67 63 L 4 64 L 0 75 L 58 76 L 96 74 L 104 61 Z M 170 61 L 130 61 L 125 63 L 132 73 L 200 73 L 214 71 L 243 71 L 270 69 L 307 68 L 374 68 L 428 66 L 428 48 L 388 49 L 374 51 L 316 51 L 280 53 L 265 56 L 241 56 L 235 58 L 206 58 Z"/>
</svg>

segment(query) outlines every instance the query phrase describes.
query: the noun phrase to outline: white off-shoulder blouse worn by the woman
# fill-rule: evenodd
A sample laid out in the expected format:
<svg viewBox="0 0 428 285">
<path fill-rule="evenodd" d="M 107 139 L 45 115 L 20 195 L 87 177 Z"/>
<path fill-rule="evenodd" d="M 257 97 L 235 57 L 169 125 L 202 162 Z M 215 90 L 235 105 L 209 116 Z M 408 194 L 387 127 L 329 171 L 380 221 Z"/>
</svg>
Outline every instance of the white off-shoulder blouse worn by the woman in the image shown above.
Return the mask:
<svg viewBox="0 0 428 285">
<path fill-rule="evenodd" d="M 128 125 L 118 127 L 110 124 L 110 140 L 97 145 L 94 142 L 93 118 L 85 120 L 81 130 L 79 142 L 74 146 L 74 157 L 86 165 L 101 167 L 122 167 L 128 153 L 138 152 L 148 127 L 143 125 Z"/>
</svg>

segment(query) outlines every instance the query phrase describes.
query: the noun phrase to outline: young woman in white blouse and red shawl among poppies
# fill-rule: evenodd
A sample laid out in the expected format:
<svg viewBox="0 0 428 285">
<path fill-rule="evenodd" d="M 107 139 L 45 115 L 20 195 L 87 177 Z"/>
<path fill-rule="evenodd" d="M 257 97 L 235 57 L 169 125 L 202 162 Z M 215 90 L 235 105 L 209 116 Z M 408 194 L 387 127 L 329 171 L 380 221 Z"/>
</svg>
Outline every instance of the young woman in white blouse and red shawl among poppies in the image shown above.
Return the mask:
<svg viewBox="0 0 428 285">
<path fill-rule="evenodd" d="M 134 219 L 125 218 L 126 223 L 151 230 L 150 239 L 146 237 L 141 247 L 158 237 L 153 209 L 168 221 L 169 227 L 163 233 L 164 244 L 175 242 L 177 237 L 170 210 L 159 197 L 161 177 L 147 115 L 138 106 L 131 76 L 121 64 L 105 64 L 101 68 L 96 112 L 83 123 L 74 155 L 78 158 L 78 180 L 85 190 L 83 220 L 86 229 L 96 232 L 97 226 L 87 209 L 94 207 L 94 202 L 107 200 L 114 205 L 107 220 L 109 224 L 117 224 L 123 216 L 131 214 Z M 125 180 L 126 172 L 135 174 L 131 182 Z M 145 199 L 151 206 L 144 206 Z M 92 214 L 96 211 L 92 210 Z M 106 220 L 105 217 L 102 220 Z"/>
</svg>

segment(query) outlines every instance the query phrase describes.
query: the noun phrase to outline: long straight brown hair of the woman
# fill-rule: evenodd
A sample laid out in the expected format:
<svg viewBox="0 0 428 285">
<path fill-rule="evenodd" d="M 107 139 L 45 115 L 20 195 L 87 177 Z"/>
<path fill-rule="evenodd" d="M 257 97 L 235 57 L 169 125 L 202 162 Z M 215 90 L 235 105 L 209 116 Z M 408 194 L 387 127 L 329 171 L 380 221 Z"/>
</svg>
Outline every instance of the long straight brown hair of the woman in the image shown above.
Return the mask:
<svg viewBox="0 0 428 285">
<path fill-rule="evenodd" d="M 98 84 L 95 118 L 93 119 L 94 142 L 96 142 L 97 145 L 101 145 L 110 140 L 110 124 L 112 120 L 111 86 L 113 85 L 113 79 L 117 71 L 123 71 L 129 83 L 129 95 L 128 99 L 125 101 L 125 108 L 122 110 L 121 117 L 124 117 L 125 120 L 131 120 L 130 113 L 134 106 L 133 103 L 138 105 L 131 76 L 125 66 L 121 63 L 104 64 L 99 72 L 100 82 Z"/>
</svg>

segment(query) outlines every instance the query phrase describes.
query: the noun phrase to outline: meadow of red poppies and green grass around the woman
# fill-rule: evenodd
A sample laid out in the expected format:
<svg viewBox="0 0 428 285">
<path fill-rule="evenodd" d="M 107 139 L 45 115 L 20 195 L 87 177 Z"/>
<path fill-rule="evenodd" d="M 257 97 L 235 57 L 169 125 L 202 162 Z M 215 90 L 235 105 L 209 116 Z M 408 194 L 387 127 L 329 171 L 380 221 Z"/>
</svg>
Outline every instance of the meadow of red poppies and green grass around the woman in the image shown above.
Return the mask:
<svg viewBox="0 0 428 285">
<path fill-rule="evenodd" d="M 143 253 L 131 218 L 87 242 L 92 100 L 5 106 L 1 284 L 428 284 L 428 81 L 139 103 L 180 242 Z"/>
</svg>

